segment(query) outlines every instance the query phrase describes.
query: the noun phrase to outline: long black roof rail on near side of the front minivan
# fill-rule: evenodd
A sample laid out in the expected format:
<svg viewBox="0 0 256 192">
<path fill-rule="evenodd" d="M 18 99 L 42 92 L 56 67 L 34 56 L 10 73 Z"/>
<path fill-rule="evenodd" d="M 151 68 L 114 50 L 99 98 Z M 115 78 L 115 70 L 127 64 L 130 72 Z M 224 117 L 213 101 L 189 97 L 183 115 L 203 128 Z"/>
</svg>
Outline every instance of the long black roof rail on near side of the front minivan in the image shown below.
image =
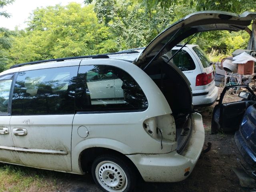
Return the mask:
<svg viewBox="0 0 256 192">
<path fill-rule="evenodd" d="M 106 54 L 104 54 L 104 55 L 88 55 L 88 56 L 77 56 L 77 57 L 66 57 L 66 58 L 58 58 L 58 59 L 32 61 L 32 62 L 21 63 L 21 64 L 16 64 L 16 65 L 10 66 L 10 69 L 16 68 L 16 67 L 21 67 L 24 65 L 33 65 L 33 64 L 46 63 L 46 62 L 52 62 L 52 61 L 60 62 L 60 61 L 64 61 L 64 60 L 83 59 L 83 58 L 104 59 L 104 58 L 109 58 L 109 56 L 107 56 Z"/>
</svg>

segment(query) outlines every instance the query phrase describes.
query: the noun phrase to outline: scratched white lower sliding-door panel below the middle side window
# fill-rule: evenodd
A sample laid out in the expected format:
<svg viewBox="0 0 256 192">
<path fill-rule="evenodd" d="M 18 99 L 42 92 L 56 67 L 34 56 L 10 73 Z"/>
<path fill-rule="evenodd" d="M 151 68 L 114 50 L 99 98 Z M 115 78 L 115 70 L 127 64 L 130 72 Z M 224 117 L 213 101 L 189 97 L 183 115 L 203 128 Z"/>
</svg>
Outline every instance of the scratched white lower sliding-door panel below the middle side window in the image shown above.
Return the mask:
<svg viewBox="0 0 256 192">
<path fill-rule="evenodd" d="M 14 135 L 15 151 L 26 166 L 70 172 L 72 115 L 12 116 L 11 129 L 23 128 L 27 135 Z"/>
</svg>

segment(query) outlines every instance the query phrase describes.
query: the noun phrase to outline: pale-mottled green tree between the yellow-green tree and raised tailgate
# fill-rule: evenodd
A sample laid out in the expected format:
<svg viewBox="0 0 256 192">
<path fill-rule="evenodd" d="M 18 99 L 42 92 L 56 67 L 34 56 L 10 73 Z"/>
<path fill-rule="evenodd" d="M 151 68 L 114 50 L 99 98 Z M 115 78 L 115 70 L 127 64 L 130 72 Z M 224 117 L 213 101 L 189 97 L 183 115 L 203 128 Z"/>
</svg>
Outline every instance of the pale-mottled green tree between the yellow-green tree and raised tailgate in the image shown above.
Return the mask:
<svg viewBox="0 0 256 192">
<path fill-rule="evenodd" d="M 96 0 L 94 12 L 110 28 L 120 50 L 146 46 L 175 17 L 173 8 L 164 12 L 159 5 L 150 7 L 135 0 Z"/>
</svg>

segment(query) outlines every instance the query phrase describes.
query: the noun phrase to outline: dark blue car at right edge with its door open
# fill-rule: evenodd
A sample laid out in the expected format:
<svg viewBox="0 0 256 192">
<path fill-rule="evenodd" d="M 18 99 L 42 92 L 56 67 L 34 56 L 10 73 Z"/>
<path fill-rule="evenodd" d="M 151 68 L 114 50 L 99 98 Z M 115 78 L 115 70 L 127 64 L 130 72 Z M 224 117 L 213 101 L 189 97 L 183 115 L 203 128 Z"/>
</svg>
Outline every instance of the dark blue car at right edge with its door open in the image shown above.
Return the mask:
<svg viewBox="0 0 256 192">
<path fill-rule="evenodd" d="M 222 103 L 227 90 L 241 90 L 240 101 Z M 236 131 L 235 142 L 244 160 L 256 168 L 256 95 L 248 86 L 227 86 L 212 116 L 212 133 Z"/>
</svg>

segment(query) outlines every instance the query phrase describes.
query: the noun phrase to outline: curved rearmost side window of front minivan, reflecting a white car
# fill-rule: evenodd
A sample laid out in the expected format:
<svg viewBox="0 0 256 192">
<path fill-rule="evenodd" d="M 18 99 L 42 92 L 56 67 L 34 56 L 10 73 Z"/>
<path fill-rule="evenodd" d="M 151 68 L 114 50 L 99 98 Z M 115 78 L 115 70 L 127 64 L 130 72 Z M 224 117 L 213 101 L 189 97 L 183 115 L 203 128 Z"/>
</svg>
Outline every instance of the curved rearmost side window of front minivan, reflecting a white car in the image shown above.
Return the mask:
<svg viewBox="0 0 256 192">
<path fill-rule="evenodd" d="M 138 83 L 124 70 L 108 65 L 80 66 L 76 111 L 142 111 L 148 100 Z"/>
</svg>

